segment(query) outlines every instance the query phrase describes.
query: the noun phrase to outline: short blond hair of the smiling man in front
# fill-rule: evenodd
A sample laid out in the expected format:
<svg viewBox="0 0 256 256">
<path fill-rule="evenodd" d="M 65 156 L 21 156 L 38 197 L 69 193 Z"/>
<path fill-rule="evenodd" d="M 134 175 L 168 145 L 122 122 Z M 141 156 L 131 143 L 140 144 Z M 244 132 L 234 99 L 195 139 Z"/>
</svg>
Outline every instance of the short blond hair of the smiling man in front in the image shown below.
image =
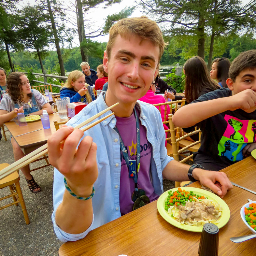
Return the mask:
<svg viewBox="0 0 256 256">
<path fill-rule="evenodd" d="M 109 59 L 111 55 L 111 49 L 118 34 L 123 38 L 130 37 L 130 35 L 137 35 L 143 40 L 150 40 L 153 45 L 159 47 L 159 63 L 163 54 L 163 50 L 167 44 L 165 41 L 163 41 L 162 32 L 157 26 L 156 22 L 147 18 L 146 16 L 119 20 L 109 30 L 109 42 L 106 46 L 106 52 Z"/>
</svg>

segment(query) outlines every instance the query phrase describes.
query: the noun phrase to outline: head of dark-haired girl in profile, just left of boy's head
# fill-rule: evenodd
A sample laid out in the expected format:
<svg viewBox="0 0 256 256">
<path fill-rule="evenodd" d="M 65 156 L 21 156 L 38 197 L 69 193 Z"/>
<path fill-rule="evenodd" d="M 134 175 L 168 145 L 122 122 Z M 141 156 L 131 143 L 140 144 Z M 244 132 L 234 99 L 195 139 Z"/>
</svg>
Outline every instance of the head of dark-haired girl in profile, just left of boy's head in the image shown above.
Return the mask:
<svg viewBox="0 0 256 256">
<path fill-rule="evenodd" d="M 230 65 L 231 63 L 227 58 L 216 58 L 212 62 L 211 79 L 217 80 L 221 87 L 228 88 L 226 81 Z"/>
</svg>

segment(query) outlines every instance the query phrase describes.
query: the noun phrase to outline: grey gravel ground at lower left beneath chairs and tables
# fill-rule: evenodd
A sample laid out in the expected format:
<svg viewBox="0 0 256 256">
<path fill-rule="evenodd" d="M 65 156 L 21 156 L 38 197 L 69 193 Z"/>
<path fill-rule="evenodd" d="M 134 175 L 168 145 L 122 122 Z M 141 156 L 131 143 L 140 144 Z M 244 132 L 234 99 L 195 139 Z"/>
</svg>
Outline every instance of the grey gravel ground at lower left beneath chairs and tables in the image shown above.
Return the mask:
<svg viewBox="0 0 256 256">
<path fill-rule="evenodd" d="M 0 141 L 2 154 L 0 163 L 13 163 L 13 150 L 10 142 L 10 133 L 6 132 L 7 141 L 4 137 Z M 45 164 L 38 161 L 31 164 L 31 168 Z M 52 166 L 34 171 L 32 175 L 40 184 L 40 193 L 31 193 L 22 172 L 20 175 L 20 186 L 28 211 L 30 224 L 26 225 L 22 209 L 19 206 L 11 206 L 0 211 L 0 256 L 44 256 L 58 255 L 58 249 L 62 244 L 53 231 L 51 214 L 53 211 L 52 188 L 53 188 Z M 174 187 L 174 182 L 164 180 L 164 190 Z M 9 187 L 0 190 L 0 197 L 10 194 Z M 0 202 L 0 206 L 11 203 L 12 198 Z"/>
</svg>

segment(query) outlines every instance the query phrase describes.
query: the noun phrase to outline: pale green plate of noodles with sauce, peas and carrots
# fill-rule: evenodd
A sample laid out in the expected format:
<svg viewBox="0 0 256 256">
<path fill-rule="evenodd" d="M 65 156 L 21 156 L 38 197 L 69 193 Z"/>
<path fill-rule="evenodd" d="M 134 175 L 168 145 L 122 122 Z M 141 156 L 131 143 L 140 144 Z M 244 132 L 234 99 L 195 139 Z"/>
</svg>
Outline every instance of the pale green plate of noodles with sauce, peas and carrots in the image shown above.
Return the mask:
<svg viewBox="0 0 256 256">
<path fill-rule="evenodd" d="M 194 187 L 173 188 L 163 193 L 157 209 L 175 227 L 202 232 L 205 223 L 222 228 L 230 218 L 228 205 L 217 195 Z"/>
</svg>

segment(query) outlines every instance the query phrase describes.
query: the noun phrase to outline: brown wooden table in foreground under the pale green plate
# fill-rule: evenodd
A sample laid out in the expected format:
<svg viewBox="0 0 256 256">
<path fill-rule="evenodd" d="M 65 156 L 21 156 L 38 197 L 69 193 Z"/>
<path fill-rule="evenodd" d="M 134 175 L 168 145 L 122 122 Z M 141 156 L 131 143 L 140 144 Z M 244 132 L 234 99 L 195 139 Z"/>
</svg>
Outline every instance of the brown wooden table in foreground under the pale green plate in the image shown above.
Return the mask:
<svg viewBox="0 0 256 256">
<path fill-rule="evenodd" d="M 251 156 L 221 171 L 234 183 L 256 191 L 255 169 L 256 160 Z M 195 182 L 189 187 L 200 188 L 201 185 Z M 219 230 L 219 256 L 248 256 L 256 251 L 256 239 L 239 244 L 229 240 L 252 233 L 240 217 L 240 209 L 247 198 L 256 201 L 256 195 L 238 187 L 233 187 L 224 197 L 230 209 L 230 219 Z M 154 201 L 90 231 L 84 239 L 61 245 L 59 255 L 195 256 L 198 255 L 200 237 L 201 233 L 182 230 L 166 222 Z"/>
</svg>

